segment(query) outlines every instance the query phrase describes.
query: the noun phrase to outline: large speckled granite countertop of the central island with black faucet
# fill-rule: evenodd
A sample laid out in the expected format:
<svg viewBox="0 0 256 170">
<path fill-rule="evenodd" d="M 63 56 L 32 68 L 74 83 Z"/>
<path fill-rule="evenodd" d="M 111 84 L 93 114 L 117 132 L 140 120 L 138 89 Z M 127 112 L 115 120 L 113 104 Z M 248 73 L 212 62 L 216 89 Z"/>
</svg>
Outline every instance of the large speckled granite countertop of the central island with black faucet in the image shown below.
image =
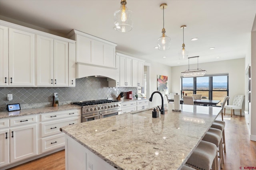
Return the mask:
<svg viewBox="0 0 256 170">
<path fill-rule="evenodd" d="M 62 127 L 62 131 L 110 165 L 123 169 L 179 170 L 220 112 L 182 105 L 152 118 L 152 109 Z"/>
</svg>

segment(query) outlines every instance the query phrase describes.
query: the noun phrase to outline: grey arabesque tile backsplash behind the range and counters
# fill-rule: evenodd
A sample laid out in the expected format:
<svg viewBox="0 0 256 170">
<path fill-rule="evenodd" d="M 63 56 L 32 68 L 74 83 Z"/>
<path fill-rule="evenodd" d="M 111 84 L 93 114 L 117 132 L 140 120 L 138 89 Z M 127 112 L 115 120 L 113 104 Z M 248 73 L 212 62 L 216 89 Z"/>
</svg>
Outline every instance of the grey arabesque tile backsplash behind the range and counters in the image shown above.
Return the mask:
<svg viewBox="0 0 256 170">
<path fill-rule="evenodd" d="M 76 79 L 76 87 L 1 87 L 0 106 L 6 104 L 40 104 L 52 102 L 54 92 L 58 93 L 60 102 L 77 102 L 97 100 L 112 97 L 114 100 L 120 92 L 132 91 L 137 88 L 108 87 L 107 78 L 84 77 Z M 13 100 L 7 100 L 7 94 L 13 95 Z M 124 93 L 126 95 L 126 93 Z"/>
</svg>

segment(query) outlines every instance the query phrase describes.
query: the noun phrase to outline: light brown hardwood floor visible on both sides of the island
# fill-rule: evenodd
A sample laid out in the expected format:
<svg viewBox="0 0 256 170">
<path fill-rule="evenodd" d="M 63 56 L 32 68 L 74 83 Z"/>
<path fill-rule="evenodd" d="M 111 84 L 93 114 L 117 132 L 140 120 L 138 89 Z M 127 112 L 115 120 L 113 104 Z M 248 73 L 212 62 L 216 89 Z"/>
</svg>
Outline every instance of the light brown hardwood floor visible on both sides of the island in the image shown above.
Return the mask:
<svg viewBox="0 0 256 170">
<path fill-rule="evenodd" d="M 221 115 L 217 118 L 221 120 Z M 256 166 L 256 142 L 250 141 L 246 122 L 240 115 L 224 115 L 226 122 L 226 153 L 222 170 L 239 170 L 244 166 Z M 65 151 L 27 162 L 9 170 L 65 170 Z"/>
</svg>

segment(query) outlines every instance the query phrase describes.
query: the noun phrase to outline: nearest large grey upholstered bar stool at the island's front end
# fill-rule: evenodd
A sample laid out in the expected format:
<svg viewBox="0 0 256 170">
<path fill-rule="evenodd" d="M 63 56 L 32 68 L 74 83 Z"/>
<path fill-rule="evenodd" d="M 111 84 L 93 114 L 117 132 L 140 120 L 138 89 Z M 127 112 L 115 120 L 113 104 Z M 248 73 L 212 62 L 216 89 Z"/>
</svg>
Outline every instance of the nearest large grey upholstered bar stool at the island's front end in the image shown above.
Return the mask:
<svg viewBox="0 0 256 170">
<path fill-rule="evenodd" d="M 218 152 L 217 147 L 213 143 L 200 141 L 194 152 L 186 162 L 197 170 L 218 170 Z"/>
</svg>

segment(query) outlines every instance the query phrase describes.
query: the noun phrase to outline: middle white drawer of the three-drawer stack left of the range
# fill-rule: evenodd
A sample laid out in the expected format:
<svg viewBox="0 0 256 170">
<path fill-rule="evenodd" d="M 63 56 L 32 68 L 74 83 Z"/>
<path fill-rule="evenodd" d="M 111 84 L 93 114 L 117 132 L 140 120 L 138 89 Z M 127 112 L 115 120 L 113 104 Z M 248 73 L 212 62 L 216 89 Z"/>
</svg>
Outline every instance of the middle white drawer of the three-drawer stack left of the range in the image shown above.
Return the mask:
<svg viewBox="0 0 256 170">
<path fill-rule="evenodd" d="M 62 119 L 59 121 L 50 121 L 46 123 L 41 123 L 42 137 L 61 133 L 60 127 L 77 124 L 79 123 L 79 120 L 80 120 L 80 117 L 74 117 L 71 119 Z"/>
</svg>

